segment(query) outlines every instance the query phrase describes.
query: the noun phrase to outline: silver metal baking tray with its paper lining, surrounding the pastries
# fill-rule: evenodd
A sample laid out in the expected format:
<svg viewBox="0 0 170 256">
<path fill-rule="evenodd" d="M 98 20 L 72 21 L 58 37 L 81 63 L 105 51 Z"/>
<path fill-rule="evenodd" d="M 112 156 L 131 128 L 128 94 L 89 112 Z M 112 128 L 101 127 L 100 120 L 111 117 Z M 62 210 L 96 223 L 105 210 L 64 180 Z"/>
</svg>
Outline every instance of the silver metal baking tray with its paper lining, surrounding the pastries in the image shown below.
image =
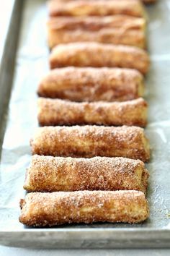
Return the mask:
<svg viewBox="0 0 170 256">
<path fill-rule="evenodd" d="M 149 104 L 146 134 L 152 148 L 152 158 L 147 164 L 151 174 L 147 194 L 150 218 L 133 225 L 94 223 L 30 229 L 18 221 L 19 199 L 25 195 L 22 185 L 31 158 L 29 140 L 37 127 L 37 83 L 49 69 L 45 27 L 48 14 L 43 0 L 15 1 L 6 39 L 9 44 L 1 63 L 4 63 L 4 69 L 0 70 L 0 112 L 6 113 L 8 109 L 6 118 L 1 118 L 0 122 L 1 138 L 4 135 L 1 146 L 0 244 L 40 248 L 170 247 L 169 9 L 169 0 L 147 7 L 148 49 L 151 55 L 145 97 Z M 11 61 L 8 56 L 13 56 Z M 9 77 L 12 77 L 13 69 L 12 84 Z M 9 99 L 7 108 L 4 96 L 6 102 Z"/>
</svg>

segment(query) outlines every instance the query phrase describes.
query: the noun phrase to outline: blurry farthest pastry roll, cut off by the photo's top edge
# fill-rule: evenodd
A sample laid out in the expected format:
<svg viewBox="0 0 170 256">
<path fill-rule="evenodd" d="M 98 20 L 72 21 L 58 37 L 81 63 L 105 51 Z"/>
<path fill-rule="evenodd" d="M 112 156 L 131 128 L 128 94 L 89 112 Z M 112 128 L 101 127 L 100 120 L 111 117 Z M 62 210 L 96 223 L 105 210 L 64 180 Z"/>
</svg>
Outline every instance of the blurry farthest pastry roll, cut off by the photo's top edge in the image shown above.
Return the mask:
<svg viewBox="0 0 170 256">
<path fill-rule="evenodd" d="M 138 0 L 77 0 L 77 1 L 48 1 L 48 11 L 51 17 L 55 16 L 106 16 L 127 14 L 134 17 L 143 17 L 143 5 Z"/>
</svg>

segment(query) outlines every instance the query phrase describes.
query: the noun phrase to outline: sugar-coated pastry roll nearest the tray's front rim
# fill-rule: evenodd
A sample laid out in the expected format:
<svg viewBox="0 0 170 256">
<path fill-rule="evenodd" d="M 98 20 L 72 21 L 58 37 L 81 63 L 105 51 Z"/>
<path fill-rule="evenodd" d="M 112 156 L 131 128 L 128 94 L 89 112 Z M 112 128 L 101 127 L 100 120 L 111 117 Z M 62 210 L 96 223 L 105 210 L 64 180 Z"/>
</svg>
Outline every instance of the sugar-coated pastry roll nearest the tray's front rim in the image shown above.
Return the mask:
<svg viewBox="0 0 170 256">
<path fill-rule="evenodd" d="M 29 193 L 20 201 L 19 221 L 27 226 L 65 223 L 138 223 L 148 218 L 145 194 L 134 190 Z"/>
</svg>

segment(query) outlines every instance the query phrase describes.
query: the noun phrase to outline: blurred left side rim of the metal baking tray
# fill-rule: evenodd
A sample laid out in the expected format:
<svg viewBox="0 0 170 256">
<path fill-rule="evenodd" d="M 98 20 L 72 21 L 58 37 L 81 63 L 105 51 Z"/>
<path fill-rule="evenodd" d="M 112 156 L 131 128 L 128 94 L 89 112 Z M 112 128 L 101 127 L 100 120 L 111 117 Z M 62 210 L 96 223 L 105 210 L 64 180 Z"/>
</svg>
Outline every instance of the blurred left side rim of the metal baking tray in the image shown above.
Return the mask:
<svg viewBox="0 0 170 256">
<path fill-rule="evenodd" d="M 0 49 L 0 167 L 1 167 L 1 149 L 4 141 L 6 130 L 9 102 L 12 93 L 14 78 L 15 60 L 17 55 L 20 25 L 22 20 L 22 11 L 24 1 L 11 0 L 11 9 L 8 4 L 4 4 L 4 9 L 9 12 L 8 20 L 3 24 L 5 33 Z M 9 65 L 10 63 L 10 65 Z"/>
</svg>

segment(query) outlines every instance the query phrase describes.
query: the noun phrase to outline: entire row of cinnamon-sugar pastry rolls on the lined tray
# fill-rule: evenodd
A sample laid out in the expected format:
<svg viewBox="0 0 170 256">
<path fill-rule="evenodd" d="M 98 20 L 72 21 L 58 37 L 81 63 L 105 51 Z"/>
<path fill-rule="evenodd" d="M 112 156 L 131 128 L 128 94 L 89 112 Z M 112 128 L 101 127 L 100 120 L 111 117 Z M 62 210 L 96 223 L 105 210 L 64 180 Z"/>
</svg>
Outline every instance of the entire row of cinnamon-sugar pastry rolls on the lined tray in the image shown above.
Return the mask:
<svg viewBox="0 0 170 256">
<path fill-rule="evenodd" d="M 154 0 L 153 0 L 154 1 Z M 152 0 L 143 0 L 151 3 Z M 138 0 L 50 0 L 50 72 L 40 81 L 19 221 L 55 226 L 148 218 L 143 128 L 146 13 Z"/>
</svg>

